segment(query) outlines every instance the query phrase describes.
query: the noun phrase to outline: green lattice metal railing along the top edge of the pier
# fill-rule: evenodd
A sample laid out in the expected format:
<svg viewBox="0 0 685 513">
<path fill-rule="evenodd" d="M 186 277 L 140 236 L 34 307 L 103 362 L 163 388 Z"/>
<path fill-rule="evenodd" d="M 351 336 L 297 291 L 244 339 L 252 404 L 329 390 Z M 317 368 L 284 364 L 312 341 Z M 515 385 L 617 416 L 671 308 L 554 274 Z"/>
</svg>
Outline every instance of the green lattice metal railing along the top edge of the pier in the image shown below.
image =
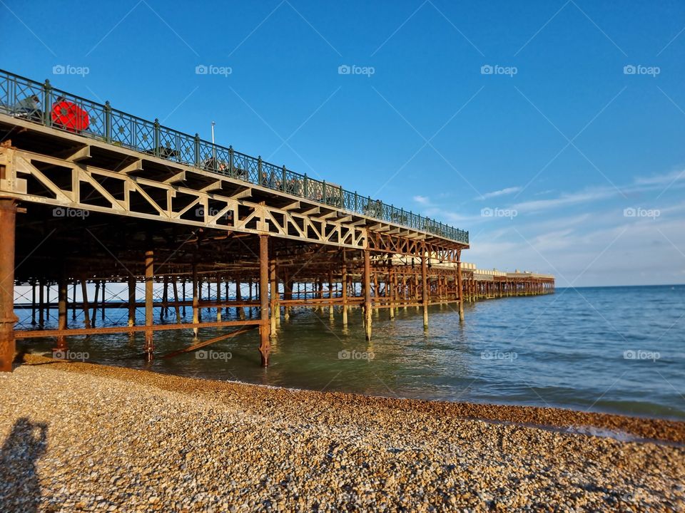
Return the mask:
<svg viewBox="0 0 685 513">
<path fill-rule="evenodd" d="M 88 113 L 88 125 L 83 130 L 53 120 L 54 105 L 71 103 Z M 0 112 L 41 125 L 77 133 L 113 145 L 130 148 L 173 162 L 198 167 L 254 185 L 288 192 L 315 202 L 338 207 L 348 212 L 367 215 L 382 221 L 400 224 L 422 232 L 469 243 L 469 232 L 447 226 L 427 217 L 385 204 L 379 199 L 363 197 L 339 185 L 315 180 L 306 175 L 265 162 L 202 140 L 198 134 L 188 135 L 159 123 L 148 121 L 86 98 L 53 88 L 49 81 L 40 83 L 14 73 L 0 70 Z"/>
</svg>

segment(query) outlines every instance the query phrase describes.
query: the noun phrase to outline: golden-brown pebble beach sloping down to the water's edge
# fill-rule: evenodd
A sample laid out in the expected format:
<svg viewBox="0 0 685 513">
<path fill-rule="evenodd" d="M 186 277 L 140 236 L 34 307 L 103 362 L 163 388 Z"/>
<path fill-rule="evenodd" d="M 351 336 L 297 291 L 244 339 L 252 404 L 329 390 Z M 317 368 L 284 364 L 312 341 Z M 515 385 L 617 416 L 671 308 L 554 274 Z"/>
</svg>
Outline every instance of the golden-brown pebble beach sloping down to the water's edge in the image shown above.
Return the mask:
<svg viewBox="0 0 685 513">
<path fill-rule="evenodd" d="M 1 512 L 685 511 L 685 423 L 53 361 L 0 376 Z"/>
</svg>

